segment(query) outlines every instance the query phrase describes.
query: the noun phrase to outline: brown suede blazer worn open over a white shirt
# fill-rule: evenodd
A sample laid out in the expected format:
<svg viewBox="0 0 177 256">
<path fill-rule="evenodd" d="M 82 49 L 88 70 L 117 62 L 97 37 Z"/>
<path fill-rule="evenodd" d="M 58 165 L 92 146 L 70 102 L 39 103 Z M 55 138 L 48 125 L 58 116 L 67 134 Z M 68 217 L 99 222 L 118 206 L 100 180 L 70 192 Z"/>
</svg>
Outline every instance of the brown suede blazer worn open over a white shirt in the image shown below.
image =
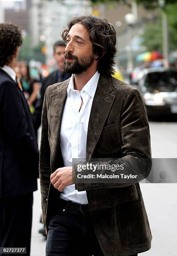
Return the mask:
<svg viewBox="0 0 177 256">
<path fill-rule="evenodd" d="M 63 167 L 60 127 L 69 79 L 46 89 L 40 144 L 42 221 L 48 222 L 60 192 L 50 175 Z M 137 89 L 113 77 L 100 75 L 88 123 L 86 160 L 91 158 L 151 159 L 147 113 Z M 76 180 L 86 190 L 99 244 L 105 256 L 128 256 L 147 251 L 152 234 L 139 183 L 92 184 Z M 46 213 L 47 212 L 47 213 Z"/>
</svg>

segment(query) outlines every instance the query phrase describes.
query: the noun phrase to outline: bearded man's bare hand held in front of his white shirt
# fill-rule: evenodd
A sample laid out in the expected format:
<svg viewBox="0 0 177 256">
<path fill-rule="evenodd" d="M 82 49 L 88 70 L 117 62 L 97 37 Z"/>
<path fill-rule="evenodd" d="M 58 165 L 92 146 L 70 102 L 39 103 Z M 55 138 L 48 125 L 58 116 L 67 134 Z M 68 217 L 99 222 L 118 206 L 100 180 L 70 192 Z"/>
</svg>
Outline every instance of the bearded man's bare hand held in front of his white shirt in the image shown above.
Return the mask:
<svg viewBox="0 0 177 256">
<path fill-rule="evenodd" d="M 53 187 L 60 192 L 63 191 L 64 187 L 76 183 L 76 177 L 72 170 L 72 166 L 58 168 L 53 172 L 53 174 L 51 174 L 51 183 L 53 184 Z"/>
</svg>

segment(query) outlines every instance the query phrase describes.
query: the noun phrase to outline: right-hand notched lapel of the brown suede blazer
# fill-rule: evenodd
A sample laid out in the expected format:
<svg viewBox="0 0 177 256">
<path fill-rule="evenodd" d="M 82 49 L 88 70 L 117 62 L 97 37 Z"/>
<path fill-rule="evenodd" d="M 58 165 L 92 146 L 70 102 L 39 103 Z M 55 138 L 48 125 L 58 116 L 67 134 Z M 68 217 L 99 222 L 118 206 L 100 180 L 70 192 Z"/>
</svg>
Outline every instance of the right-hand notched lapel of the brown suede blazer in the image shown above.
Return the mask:
<svg viewBox="0 0 177 256">
<path fill-rule="evenodd" d="M 89 161 L 99 140 L 106 118 L 114 102 L 115 95 L 109 94 L 114 90 L 112 77 L 100 74 L 99 82 L 94 95 L 88 122 L 86 160 Z"/>
</svg>

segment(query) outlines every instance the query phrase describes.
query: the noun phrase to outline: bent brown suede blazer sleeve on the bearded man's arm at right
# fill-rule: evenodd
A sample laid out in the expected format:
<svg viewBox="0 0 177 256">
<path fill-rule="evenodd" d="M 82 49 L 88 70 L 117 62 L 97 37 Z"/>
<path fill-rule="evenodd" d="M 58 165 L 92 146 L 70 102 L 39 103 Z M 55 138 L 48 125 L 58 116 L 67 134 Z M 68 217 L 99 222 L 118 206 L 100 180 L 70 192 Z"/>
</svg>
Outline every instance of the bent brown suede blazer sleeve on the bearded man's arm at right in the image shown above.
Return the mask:
<svg viewBox="0 0 177 256">
<path fill-rule="evenodd" d="M 121 108 L 120 129 L 122 141 L 121 152 L 123 157 L 99 163 L 104 165 L 124 164 L 126 174 L 138 175 L 138 178 L 132 182 L 137 183 L 149 175 L 152 167 L 149 123 L 144 102 L 137 89 L 132 89 L 129 92 Z M 77 165 L 73 165 L 75 174 Z M 106 174 L 106 170 L 102 173 Z M 95 184 L 79 183 L 76 175 L 75 187 L 78 191 L 83 191 L 109 187 L 126 187 L 132 183 L 97 183 L 95 186 Z"/>
</svg>

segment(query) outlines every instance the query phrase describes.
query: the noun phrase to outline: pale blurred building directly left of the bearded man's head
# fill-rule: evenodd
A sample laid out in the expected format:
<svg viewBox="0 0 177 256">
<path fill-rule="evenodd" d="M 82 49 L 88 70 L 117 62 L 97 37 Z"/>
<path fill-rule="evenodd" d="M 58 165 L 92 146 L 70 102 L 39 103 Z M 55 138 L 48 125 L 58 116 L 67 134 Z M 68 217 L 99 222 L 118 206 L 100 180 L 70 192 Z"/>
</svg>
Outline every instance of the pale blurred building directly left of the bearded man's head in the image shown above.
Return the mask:
<svg viewBox="0 0 177 256">
<path fill-rule="evenodd" d="M 43 0 L 32 1 L 41 3 Z M 91 13 L 91 5 L 89 0 L 51 0 L 40 5 L 40 8 L 43 11 L 38 39 L 45 41 L 46 63 L 52 65 L 53 44 L 61 39 L 61 31 L 67 27 L 68 20 L 74 16 Z"/>
</svg>

